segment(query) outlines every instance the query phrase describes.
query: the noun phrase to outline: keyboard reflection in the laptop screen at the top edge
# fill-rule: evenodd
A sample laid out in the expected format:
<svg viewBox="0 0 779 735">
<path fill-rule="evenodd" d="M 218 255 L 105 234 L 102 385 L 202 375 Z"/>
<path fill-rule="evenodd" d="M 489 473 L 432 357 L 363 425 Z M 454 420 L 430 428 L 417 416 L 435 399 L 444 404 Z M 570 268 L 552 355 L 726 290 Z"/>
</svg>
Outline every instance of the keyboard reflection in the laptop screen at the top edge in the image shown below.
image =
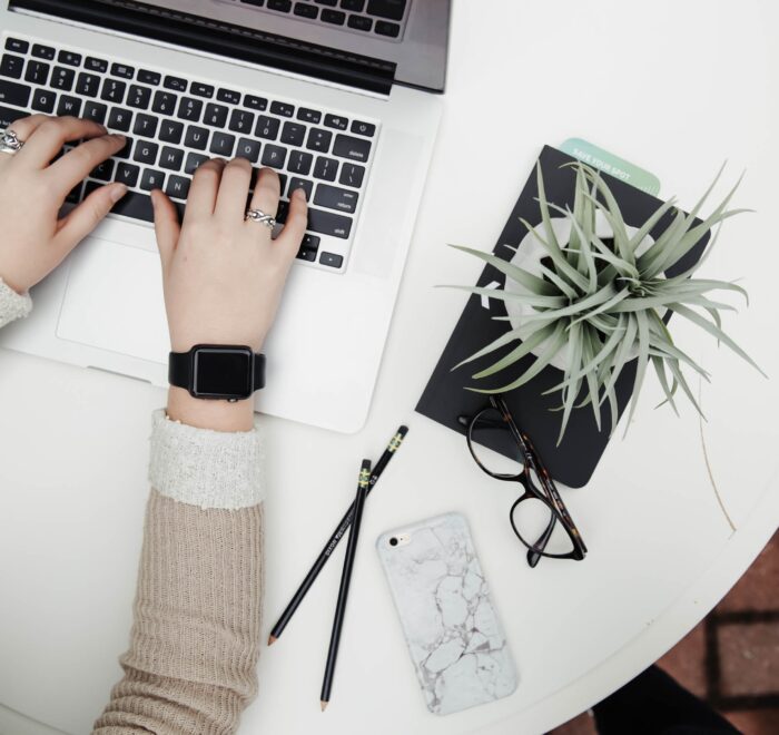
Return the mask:
<svg viewBox="0 0 779 735">
<path fill-rule="evenodd" d="M 361 36 L 400 41 L 411 0 L 223 0 L 244 8 L 286 13 Z"/>
</svg>

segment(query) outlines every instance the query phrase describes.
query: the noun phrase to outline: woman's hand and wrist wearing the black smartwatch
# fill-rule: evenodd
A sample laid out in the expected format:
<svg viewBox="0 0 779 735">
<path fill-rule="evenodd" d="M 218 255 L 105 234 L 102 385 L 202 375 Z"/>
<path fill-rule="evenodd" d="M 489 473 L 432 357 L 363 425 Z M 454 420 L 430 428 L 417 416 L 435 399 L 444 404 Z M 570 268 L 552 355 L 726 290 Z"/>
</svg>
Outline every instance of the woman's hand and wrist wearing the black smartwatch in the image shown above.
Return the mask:
<svg viewBox="0 0 779 735">
<path fill-rule="evenodd" d="M 151 193 L 162 286 L 174 352 L 196 344 L 245 344 L 259 352 L 270 329 L 282 291 L 306 229 L 303 190 L 289 204 L 286 225 L 276 239 L 262 223 L 245 222 L 252 165 L 214 159 L 195 174 L 184 223 L 170 199 Z M 263 168 L 252 208 L 274 215 L 279 179 Z M 168 415 L 196 427 L 245 431 L 253 425 L 249 399 L 228 403 L 194 399 L 171 388 Z"/>
</svg>

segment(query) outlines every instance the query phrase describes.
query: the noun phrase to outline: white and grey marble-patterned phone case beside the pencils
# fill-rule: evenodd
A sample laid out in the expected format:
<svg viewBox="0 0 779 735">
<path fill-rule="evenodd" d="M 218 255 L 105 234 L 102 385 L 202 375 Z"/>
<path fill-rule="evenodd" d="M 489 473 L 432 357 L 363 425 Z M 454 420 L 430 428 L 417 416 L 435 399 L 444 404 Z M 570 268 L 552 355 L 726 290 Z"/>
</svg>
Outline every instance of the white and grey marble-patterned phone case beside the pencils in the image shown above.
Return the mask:
<svg viewBox="0 0 779 735">
<path fill-rule="evenodd" d="M 376 548 L 427 708 L 447 715 L 510 695 L 516 668 L 465 518 L 387 531 Z"/>
</svg>

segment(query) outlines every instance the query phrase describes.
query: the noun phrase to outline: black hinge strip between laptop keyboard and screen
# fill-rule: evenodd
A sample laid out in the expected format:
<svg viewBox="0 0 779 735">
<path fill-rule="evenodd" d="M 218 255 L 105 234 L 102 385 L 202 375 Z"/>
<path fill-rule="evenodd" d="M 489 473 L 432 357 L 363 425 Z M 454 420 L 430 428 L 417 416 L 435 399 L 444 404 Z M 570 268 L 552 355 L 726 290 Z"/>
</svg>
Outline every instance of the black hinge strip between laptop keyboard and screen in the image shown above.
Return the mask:
<svg viewBox="0 0 779 735">
<path fill-rule="evenodd" d="M 379 95 L 389 94 L 395 78 L 389 61 L 136 0 L 9 0 L 8 7 Z"/>
</svg>

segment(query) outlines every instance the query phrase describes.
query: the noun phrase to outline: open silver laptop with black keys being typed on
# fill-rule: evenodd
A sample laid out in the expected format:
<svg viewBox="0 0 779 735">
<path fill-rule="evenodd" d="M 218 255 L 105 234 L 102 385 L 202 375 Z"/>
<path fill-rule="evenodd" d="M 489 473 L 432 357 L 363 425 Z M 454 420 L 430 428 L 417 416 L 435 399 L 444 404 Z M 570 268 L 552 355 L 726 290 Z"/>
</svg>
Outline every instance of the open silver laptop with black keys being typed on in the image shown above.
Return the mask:
<svg viewBox="0 0 779 735">
<path fill-rule="evenodd" d="M 308 229 L 257 409 L 367 418 L 441 116 L 450 0 L 0 0 L 0 127 L 87 117 L 128 145 L 70 193 L 129 193 L 33 290 L 0 345 L 167 385 L 149 192 L 180 212 L 209 157 L 306 188 Z M 34 203 L 30 203 L 34 215 Z"/>
</svg>

